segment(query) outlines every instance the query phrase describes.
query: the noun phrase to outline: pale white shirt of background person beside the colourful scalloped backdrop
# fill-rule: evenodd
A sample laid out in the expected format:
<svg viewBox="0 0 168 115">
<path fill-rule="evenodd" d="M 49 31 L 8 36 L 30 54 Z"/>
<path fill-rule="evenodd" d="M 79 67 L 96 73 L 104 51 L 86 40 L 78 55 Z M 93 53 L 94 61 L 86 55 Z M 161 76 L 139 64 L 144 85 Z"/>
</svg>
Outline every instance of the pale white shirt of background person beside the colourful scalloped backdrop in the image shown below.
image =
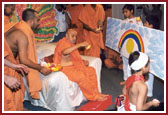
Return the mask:
<svg viewBox="0 0 168 115">
<path fill-rule="evenodd" d="M 69 12 L 67 12 L 67 13 L 68 13 L 68 16 L 70 17 Z M 57 20 L 56 27 L 57 27 L 58 31 L 59 32 L 66 32 L 66 30 L 68 29 L 68 24 L 66 22 L 65 13 L 62 13 L 56 9 L 55 19 Z"/>
</svg>

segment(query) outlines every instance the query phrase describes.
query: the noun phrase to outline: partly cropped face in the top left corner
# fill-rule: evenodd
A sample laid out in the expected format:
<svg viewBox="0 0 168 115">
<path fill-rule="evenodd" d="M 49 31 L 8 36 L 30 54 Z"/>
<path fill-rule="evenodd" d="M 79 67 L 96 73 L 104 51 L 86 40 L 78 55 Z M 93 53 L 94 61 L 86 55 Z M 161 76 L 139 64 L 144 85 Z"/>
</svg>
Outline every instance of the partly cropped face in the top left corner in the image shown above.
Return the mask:
<svg viewBox="0 0 168 115">
<path fill-rule="evenodd" d="M 15 5 L 5 5 L 4 14 L 5 16 L 11 16 L 15 10 Z"/>
</svg>

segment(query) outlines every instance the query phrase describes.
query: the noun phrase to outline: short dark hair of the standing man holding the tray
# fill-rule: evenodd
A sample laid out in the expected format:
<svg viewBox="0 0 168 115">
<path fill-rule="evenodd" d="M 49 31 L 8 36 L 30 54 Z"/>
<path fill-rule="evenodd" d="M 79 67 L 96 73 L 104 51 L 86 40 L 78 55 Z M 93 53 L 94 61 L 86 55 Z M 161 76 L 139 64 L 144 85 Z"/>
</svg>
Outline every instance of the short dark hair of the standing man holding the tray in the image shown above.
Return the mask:
<svg viewBox="0 0 168 115">
<path fill-rule="evenodd" d="M 33 9 L 30 9 L 30 8 L 24 10 L 23 13 L 22 13 L 22 19 L 25 22 L 27 22 L 30 19 L 34 19 L 35 18 L 35 14 L 34 14 L 35 12 L 37 12 L 37 11 L 35 11 Z"/>
</svg>

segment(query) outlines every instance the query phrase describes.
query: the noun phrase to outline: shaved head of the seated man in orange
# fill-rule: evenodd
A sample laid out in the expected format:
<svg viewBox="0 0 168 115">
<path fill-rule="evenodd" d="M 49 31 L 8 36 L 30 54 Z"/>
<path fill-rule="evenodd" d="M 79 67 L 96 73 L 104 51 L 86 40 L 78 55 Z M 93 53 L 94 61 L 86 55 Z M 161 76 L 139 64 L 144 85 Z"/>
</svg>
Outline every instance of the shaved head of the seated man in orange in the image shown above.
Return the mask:
<svg viewBox="0 0 168 115">
<path fill-rule="evenodd" d="M 66 38 L 71 42 L 71 43 L 75 43 L 76 42 L 76 36 L 77 36 L 77 32 L 74 29 L 68 29 L 67 33 L 66 33 Z"/>
</svg>

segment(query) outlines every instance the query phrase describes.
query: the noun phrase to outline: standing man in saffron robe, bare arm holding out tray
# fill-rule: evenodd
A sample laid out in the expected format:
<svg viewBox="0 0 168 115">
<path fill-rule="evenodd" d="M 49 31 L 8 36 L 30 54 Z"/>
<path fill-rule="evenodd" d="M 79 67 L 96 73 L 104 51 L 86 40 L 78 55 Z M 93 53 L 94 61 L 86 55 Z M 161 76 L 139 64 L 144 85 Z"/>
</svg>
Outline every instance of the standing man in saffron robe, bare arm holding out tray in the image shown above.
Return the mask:
<svg viewBox="0 0 168 115">
<path fill-rule="evenodd" d="M 21 64 L 30 68 L 28 74 L 29 91 L 32 98 L 39 99 L 38 91 L 41 90 L 39 72 L 48 75 L 51 71 L 37 64 L 36 44 L 33 30 L 39 26 L 40 18 L 33 9 L 26 9 L 22 13 L 22 21 L 5 33 L 5 39 L 9 44 L 15 58 Z"/>
</svg>

